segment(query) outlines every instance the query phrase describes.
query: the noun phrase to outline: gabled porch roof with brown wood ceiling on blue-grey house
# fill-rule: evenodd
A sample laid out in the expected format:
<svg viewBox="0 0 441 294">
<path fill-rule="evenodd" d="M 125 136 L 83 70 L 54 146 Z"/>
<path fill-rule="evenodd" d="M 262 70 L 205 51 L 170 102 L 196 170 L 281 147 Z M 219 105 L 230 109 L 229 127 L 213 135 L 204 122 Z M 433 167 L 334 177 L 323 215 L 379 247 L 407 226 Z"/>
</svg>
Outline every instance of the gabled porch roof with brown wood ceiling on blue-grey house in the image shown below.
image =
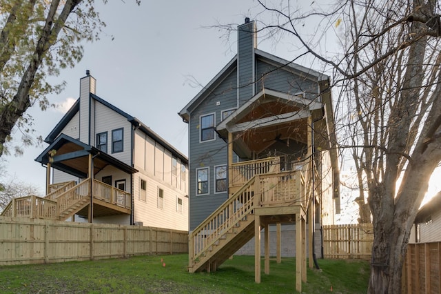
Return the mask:
<svg viewBox="0 0 441 294">
<path fill-rule="evenodd" d="M 264 89 L 247 101 L 216 128 L 220 137 L 233 134 L 233 150 L 242 158 L 251 158 L 271 148 L 295 140 L 307 144 L 307 118 L 318 102 Z"/>
</svg>

